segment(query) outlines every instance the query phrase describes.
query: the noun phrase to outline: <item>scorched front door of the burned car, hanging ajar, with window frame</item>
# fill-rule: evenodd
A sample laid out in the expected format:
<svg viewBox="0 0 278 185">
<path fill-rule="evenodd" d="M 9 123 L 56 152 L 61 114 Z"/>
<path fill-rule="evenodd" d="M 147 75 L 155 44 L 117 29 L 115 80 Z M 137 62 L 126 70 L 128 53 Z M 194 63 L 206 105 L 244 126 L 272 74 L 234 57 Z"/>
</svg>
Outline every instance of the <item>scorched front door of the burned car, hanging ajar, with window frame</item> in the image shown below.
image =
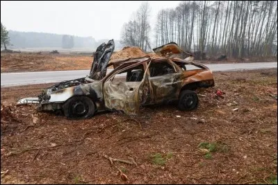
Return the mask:
<svg viewBox="0 0 278 185">
<path fill-rule="evenodd" d="M 108 76 L 104 82 L 104 103 L 107 109 L 136 115 L 140 105 L 147 100 L 149 61 L 138 62 L 124 67 Z"/>
</svg>

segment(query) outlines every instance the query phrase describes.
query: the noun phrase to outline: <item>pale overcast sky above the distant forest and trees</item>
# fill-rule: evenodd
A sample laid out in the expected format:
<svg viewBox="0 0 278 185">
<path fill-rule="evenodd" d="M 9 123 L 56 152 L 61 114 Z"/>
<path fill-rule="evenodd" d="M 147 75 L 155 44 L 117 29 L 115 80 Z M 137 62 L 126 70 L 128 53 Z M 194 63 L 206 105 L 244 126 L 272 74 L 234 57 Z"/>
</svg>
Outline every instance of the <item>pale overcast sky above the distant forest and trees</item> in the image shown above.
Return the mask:
<svg viewBox="0 0 278 185">
<path fill-rule="evenodd" d="M 122 25 L 142 2 L 1 1 L 1 22 L 8 30 L 120 39 Z M 174 8 L 179 2 L 149 1 L 151 24 L 155 24 L 159 10 Z"/>
</svg>

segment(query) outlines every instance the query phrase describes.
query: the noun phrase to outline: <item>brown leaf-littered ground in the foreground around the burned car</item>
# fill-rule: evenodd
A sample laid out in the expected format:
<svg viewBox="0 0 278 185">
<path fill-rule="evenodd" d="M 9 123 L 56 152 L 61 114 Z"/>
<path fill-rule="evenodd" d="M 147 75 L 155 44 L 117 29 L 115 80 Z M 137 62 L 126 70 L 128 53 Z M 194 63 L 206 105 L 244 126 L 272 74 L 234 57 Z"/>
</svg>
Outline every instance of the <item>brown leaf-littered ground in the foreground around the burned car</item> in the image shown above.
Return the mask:
<svg viewBox="0 0 278 185">
<path fill-rule="evenodd" d="M 1 88 L 1 184 L 277 184 L 277 69 L 218 72 L 215 87 L 197 91 L 197 110 L 133 117 L 15 107 L 44 87 Z"/>
</svg>

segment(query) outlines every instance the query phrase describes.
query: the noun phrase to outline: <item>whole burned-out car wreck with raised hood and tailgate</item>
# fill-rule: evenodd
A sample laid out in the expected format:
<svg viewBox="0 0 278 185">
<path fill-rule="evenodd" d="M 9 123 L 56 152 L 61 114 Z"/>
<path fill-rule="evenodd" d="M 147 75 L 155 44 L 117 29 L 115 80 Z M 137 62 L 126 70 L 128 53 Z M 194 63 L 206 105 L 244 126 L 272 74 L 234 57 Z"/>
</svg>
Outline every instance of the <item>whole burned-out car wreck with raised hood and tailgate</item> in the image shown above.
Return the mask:
<svg viewBox="0 0 278 185">
<path fill-rule="evenodd" d="M 90 75 L 53 85 L 38 98 L 23 98 L 18 105 L 38 103 L 38 110 L 60 111 L 67 118 L 90 118 L 96 112 L 119 110 L 137 114 L 140 106 L 177 102 L 182 111 L 197 108 L 197 88 L 214 86 L 213 73 L 197 62 L 171 57 L 181 53 L 171 42 L 154 49 L 160 57 L 110 61 L 113 39 L 101 44 Z M 107 70 L 113 71 L 107 73 Z"/>
</svg>

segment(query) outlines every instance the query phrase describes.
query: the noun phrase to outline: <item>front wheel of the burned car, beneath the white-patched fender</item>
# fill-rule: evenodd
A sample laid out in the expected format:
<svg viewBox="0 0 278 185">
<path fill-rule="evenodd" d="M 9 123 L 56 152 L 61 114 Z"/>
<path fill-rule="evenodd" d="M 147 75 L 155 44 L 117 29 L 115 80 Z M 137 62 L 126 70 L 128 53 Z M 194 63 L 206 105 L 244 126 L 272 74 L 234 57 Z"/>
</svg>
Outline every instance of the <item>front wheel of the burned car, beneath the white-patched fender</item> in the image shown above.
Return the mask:
<svg viewBox="0 0 278 185">
<path fill-rule="evenodd" d="M 90 118 L 95 114 L 95 103 L 87 96 L 74 96 L 63 105 L 63 111 L 67 118 Z"/>
</svg>

